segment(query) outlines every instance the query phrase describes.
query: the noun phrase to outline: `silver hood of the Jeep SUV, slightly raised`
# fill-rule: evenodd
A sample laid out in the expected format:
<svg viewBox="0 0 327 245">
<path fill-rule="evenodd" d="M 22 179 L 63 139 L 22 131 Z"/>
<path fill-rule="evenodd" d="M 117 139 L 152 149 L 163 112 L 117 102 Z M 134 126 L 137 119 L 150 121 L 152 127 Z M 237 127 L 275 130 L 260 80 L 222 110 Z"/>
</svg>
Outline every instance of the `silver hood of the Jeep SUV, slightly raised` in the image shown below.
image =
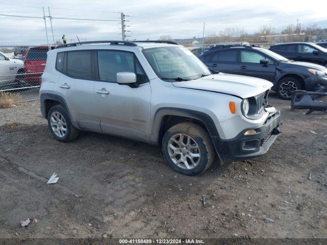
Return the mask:
<svg viewBox="0 0 327 245">
<path fill-rule="evenodd" d="M 231 74 L 214 74 L 191 81 L 173 82 L 175 87 L 226 93 L 241 97 L 252 97 L 267 91 L 272 83 L 267 80 Z"/>
</svg>

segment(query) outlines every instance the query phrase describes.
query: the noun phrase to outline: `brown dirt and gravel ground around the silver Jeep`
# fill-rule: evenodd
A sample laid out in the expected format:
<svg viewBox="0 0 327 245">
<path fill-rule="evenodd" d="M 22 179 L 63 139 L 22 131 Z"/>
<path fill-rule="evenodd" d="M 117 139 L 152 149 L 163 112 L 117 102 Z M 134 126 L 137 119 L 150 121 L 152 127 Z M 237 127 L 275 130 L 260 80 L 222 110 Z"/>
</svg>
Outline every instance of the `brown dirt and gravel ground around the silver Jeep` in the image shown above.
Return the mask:
<svg viewBox="0 0 327 245">
<path fill-rule="evenodd" d="M 327 115 L 270 104 L 283 133 L 269 152 L 198 177 L 145 143 L 90 132 L 60 143 L 38 102 L 0 109 L 0 237 L 326 238 Z M 38 223 L 21 228 L 27 218 Z"/>
</svg>

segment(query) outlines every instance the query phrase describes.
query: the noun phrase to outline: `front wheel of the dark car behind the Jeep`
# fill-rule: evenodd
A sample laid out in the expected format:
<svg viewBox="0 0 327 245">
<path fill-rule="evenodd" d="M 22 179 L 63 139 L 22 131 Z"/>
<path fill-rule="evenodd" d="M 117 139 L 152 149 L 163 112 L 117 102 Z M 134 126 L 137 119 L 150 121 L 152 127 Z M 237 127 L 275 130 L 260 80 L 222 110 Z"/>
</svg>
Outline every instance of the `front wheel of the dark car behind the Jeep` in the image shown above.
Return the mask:
<svg viewBox="0 0 327 245">
<path fill-rule="evenodd" d="M 291 100 L 291 92 L 295 90 L 301 90 L 301 82 L 292 77 L 281 79 L 277 84 L 277 95 L 283 100 Z"/>
</svg>

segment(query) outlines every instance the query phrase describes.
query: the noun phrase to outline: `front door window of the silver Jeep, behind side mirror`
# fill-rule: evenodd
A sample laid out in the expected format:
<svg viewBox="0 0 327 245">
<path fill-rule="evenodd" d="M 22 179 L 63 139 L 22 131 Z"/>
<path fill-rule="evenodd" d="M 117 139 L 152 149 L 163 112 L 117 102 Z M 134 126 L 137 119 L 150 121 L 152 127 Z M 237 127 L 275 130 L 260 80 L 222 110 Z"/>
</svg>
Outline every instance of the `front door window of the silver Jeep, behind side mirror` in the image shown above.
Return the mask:
<svg viewBox="0 0 327 245">
<path fill-rule="evenodd" d="M 100 81 L 116 83 L 118 72 L 129 71 L 136 74 L 137 83 L 147 82 L 145 72 L 133 53 L 98 51 L 98 67 Z"/>
</svg>

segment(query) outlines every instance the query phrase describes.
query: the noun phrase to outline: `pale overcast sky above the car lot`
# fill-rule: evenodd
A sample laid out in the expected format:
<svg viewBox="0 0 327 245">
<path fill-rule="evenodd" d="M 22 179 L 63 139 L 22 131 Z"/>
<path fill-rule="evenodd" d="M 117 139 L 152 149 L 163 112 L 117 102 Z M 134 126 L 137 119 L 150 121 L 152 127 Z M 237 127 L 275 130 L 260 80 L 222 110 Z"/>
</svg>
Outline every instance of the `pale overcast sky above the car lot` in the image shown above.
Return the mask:
<svg viewBox="0 0 327 245">
<path fill-rule="evenodd" d="M 261 27 L 282 30 L 289 23 L 316 23 L 327 28 L 325 1 L 301 3 L 300 1 L 221 1 L 221 0 L 0 0 L 0 14 L 42 17 L 41 7 L 53 17 L 107 19 L 115 21 L 86 21 L 53 19 L 55 40 L 65 34 L 68 41 L 76 40 L 121 40 L 120 14 L 124 12 L 130 40 L 154 39 L 162 35 L 173 38 L 202 36 L 205 22 L 205 36 L 218 33 L 225 28 L 244 28 L 253 33 Z M 53 42 L 50 21 L 47 18 L 49 40 Z M 44 20 L 42 18 L 18 18 L 0 16 L 0 44 L 43 44 L 46 43 Z M 73 40 L 72 40 L 73 41 Z"/>
</svg>

